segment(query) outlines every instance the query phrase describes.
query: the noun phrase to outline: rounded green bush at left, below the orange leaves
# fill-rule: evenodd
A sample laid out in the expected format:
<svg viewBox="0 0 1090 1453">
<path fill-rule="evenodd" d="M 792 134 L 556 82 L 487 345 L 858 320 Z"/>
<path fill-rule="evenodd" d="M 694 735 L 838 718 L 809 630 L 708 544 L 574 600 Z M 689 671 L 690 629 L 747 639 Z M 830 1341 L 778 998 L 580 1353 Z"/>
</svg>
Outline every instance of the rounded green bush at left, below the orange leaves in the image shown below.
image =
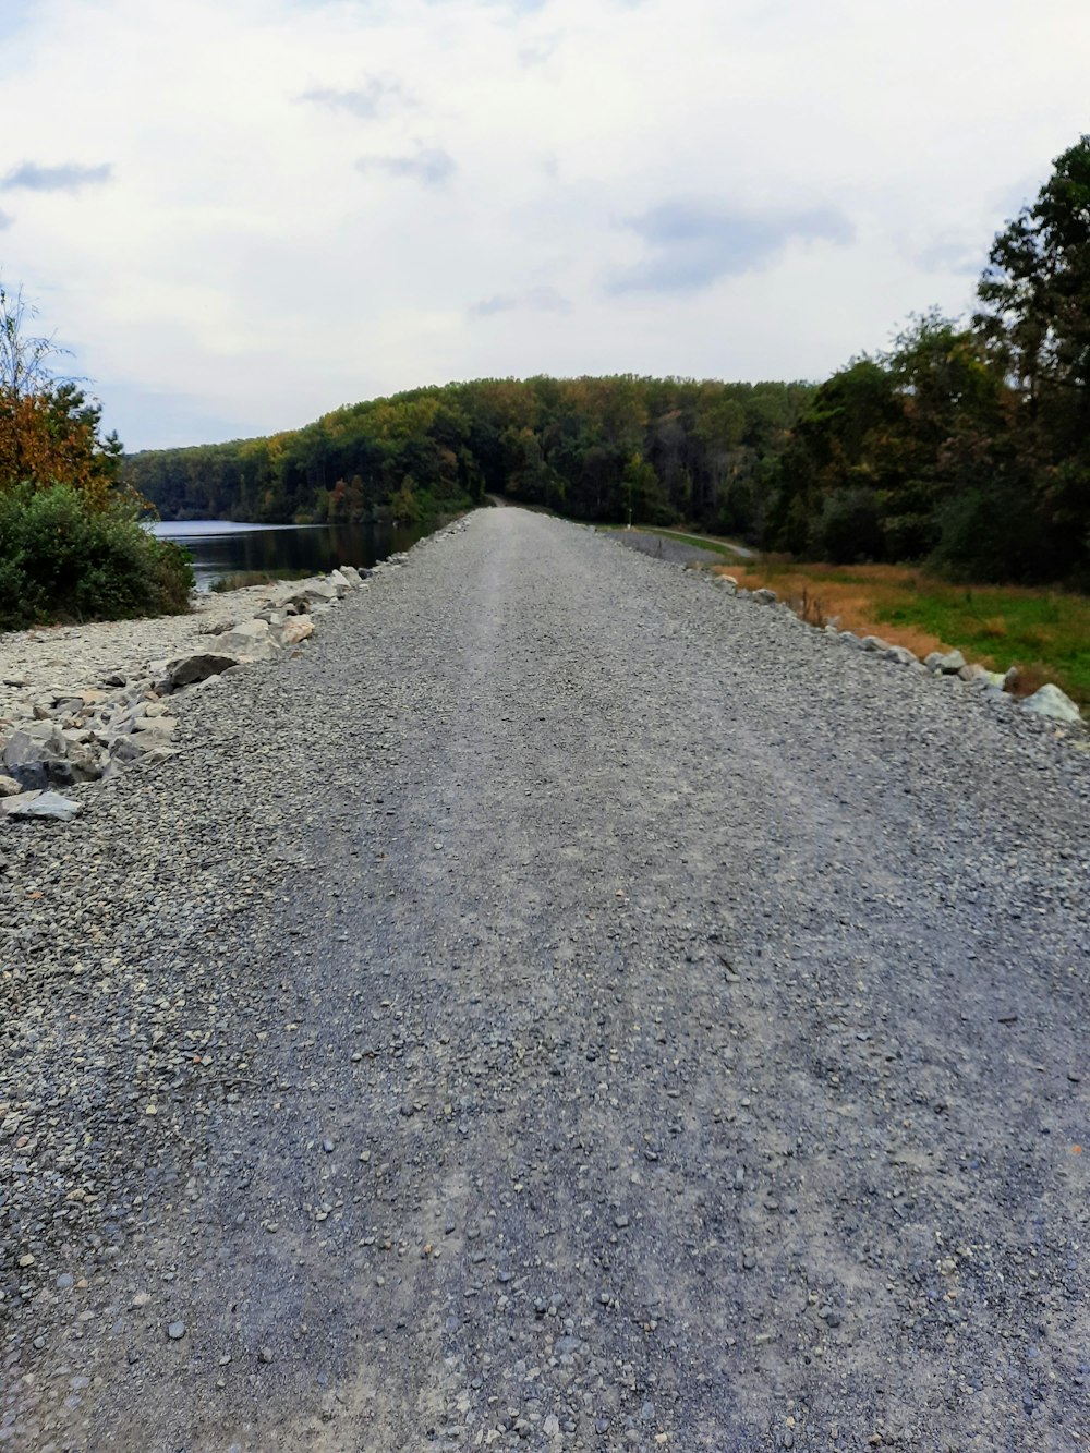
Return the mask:
<svg viewBox="0 0 1090 1453">
<path fill-rule="evenodd" d="M 87 509 L 67 484 L 0 493 L 0 628 L 182 615 L 190 556 L 148 535 L 137 506 Z"/>
</svg>

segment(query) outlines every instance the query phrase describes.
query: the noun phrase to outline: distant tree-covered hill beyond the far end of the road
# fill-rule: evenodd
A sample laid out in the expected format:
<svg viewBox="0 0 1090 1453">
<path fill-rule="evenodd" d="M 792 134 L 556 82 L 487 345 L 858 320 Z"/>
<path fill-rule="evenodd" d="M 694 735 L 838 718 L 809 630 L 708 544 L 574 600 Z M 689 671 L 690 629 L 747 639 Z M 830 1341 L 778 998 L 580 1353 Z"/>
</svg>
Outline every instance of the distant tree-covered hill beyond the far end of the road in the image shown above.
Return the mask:
<svg viewBox="0 0 1090 1453">
<path fill-rule="evenodd" d="M 164 517 L 429 519 L 488 493 L 583 520 L 751 532 L 807 384 L 480 379 L 339 408 L 291 433 L 126 459 Z"/>
</svg>

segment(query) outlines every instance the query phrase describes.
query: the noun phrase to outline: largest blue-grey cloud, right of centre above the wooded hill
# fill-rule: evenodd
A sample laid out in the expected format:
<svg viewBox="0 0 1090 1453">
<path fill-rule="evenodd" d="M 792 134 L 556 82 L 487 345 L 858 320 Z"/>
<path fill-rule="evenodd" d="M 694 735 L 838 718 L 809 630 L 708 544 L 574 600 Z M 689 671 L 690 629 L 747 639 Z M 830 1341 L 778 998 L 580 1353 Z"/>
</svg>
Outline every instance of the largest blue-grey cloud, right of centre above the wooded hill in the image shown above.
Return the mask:
<svg viewBox="0 0 1090 1453">
<path fill-rule="evenodd" d="M 792 241 L 844 246 L 855 237 L 849 219 L 831 208 L 762 215 L 680 201 L 663 202 L 625 227 L 651 256 L 616 272 L 607 285 L 613 294 L 692 292 L 767 267 Z"/>
</svg>

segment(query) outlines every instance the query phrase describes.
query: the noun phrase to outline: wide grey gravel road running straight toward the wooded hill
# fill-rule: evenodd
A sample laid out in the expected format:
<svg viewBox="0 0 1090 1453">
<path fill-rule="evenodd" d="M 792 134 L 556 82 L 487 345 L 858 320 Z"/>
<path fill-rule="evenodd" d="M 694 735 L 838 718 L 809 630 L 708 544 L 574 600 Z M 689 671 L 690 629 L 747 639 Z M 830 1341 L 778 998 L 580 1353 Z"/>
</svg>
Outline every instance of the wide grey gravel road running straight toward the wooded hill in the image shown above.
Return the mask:
<svg viewBox="0 0 1090 1453">
<path fill-rule="evenodd" d="M 517 509 L 176 700 L 0 835 L 0 1447 L 1090 1447 L 1075 738 Z"/>
</svg>

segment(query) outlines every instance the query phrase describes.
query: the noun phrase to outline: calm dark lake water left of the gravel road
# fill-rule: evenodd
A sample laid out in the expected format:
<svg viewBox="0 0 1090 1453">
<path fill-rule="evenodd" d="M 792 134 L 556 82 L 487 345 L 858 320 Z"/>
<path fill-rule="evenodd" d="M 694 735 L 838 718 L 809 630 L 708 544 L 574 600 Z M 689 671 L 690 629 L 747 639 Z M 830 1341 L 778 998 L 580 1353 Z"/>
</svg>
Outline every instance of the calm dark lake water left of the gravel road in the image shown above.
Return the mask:
<svg viewBox="0 0 1090 1453">
<path fill-rule="evenodd" d="M 163 522 L 150 526 L 161 539 L 177 541 L 193 556 L 196 588 L 240 570 L 305 570 L 310 574 L 337 565 L 374 565 L 395 551 L 408 549 L 423 530 L 388 525 L 234 525 L 230 520 Z"/>
</svg>

